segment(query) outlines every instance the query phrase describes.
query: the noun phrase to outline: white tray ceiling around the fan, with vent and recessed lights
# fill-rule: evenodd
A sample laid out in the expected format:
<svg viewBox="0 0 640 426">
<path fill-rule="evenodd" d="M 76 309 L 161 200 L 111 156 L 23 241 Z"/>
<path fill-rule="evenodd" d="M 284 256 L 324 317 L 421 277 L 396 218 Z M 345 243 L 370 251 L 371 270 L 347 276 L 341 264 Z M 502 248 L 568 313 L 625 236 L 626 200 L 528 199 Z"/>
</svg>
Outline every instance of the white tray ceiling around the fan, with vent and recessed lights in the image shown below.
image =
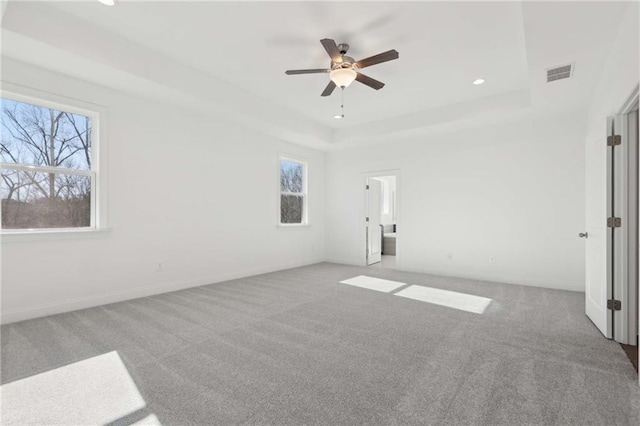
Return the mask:
<svg viewBox="0 0 640 426">
<path fill-rule="evenodd" d="M 44 44 L 83 56 L 85 66 L 88 59 L 188 92 L 186 83 L 178 81 L 183 76 L 206 86 L 201 92 L 203 97 L 209 94 L 208 101 L 253 114 L 272 133 L 286 128 L 286 138 L 298 141 L 300 134 L 320 134 L 309 138 L 320 148 L 412 129 L 473 124 L 491 119 L 491 114 L 585 108 L 628 6 L 122 0 L 109 8 L 97 1 L 47 3 L 10 2 L 2 22 L 3 55 L 38 64 L 33 44 L 25 50 L 28 41 L 37 40 L 39 49 Z M 54 14 L 64 19 L 64 31 L 75 36 L 51 34 L 62 32 L 62 24 L 49 23 L 48 33 L 43 30 L 46 22 L 36 15 Z M 333 118 L 339 111 L 339 90 L 331 97 L 320 96 L 327 74 L 284 74 L 286 69 L 327 67 L 329 59 L 319 43 L 325 37 L 349 43 L 349 55 L 356 59 L 389 49 L 400 52 L 398 60 L 363 70 L 386 83 L 382 90 L 358 82 L 345 90 L 344 120 Z M 99 43 L 102 53 L 87 50 L 89 40 Z M 158 70 L 154 75 L 151 61 L 161 59 L 165 74 Z M 134 69 L 136 60 L 140 66 Z M 546 68 L 570 62 L 575 63 L 571 80 L 545 83 Z M 173 80 L 167 64 L 181 67 Z M 189 77 L 192 72 L 198 74 Z M 87 74 L 85 78 L 93 80 L 102 75 Z M 486 83 L 472 85 L 476 78 Z M 196 92 L 191 90 L 190 96 Z M 224 96 L 212 99 L 213 93 Z M 263 114 L 266 110 L 270 116 Z"/>
</svg>

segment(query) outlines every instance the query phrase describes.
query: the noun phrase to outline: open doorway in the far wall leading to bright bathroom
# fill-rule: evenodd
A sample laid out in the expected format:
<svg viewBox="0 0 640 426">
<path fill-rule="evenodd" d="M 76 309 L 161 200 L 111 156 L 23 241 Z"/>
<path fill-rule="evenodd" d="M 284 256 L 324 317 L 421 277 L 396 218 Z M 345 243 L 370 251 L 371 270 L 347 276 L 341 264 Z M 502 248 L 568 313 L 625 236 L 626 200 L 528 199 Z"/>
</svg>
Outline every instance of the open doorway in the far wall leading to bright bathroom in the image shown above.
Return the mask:
<svg viewBox="0 0 640 426">
<path fill-rule="evenodd" d="M 367 265 L 395 268 L 398 251 L 397 175 L 371 175 L 366 180 Z"/>
</svg>

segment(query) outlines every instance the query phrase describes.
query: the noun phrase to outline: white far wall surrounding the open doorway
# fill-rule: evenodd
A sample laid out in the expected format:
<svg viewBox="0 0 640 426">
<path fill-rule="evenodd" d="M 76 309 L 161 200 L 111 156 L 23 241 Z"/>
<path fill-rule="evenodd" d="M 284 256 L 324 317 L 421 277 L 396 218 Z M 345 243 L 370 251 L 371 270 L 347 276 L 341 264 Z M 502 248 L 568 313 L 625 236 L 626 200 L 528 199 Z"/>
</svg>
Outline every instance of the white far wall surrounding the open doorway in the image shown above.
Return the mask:
<svg viewBox="0 0 640 426">
<path fill-rule="evenodd" d="M 327 257 L 364 264 L 362 174 L 398 169 L 402 269 L 584 291 L 585 126 L 580 111 L 328 153 Z"/>
</svg>

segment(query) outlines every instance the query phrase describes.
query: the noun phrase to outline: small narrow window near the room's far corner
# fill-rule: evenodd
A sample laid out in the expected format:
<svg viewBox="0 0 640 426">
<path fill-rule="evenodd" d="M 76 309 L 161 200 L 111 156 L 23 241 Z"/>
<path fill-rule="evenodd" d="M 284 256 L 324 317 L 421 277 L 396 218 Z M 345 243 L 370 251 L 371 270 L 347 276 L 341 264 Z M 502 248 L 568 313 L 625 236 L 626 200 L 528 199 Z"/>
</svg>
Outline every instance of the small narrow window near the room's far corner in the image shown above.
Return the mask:
<svg viewBox="0 0 640 426">
<path fill-rule="evenodd" d="M 307 164 L 280 158 L 280 224 L 307 223 Z"/>
</svg>

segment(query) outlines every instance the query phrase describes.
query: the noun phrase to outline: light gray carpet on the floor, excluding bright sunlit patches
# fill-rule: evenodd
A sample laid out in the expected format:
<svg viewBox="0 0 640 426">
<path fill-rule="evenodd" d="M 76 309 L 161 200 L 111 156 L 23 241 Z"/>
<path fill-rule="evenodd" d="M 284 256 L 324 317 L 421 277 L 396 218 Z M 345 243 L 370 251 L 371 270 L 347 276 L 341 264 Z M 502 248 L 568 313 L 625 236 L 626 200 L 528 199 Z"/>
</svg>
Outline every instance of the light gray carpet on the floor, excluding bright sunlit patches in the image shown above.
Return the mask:
<svg viewBox="0 0 640 426">
<path fill-rule="evenodd" d="M 494 301 L 339 284 L 357 275 Z M 114 424 L 640 424 L 638 377 L 581 293 L 324 263 L 1 333 L 2 383 L 117 351 L 146 407 Z"/>
</svg>

